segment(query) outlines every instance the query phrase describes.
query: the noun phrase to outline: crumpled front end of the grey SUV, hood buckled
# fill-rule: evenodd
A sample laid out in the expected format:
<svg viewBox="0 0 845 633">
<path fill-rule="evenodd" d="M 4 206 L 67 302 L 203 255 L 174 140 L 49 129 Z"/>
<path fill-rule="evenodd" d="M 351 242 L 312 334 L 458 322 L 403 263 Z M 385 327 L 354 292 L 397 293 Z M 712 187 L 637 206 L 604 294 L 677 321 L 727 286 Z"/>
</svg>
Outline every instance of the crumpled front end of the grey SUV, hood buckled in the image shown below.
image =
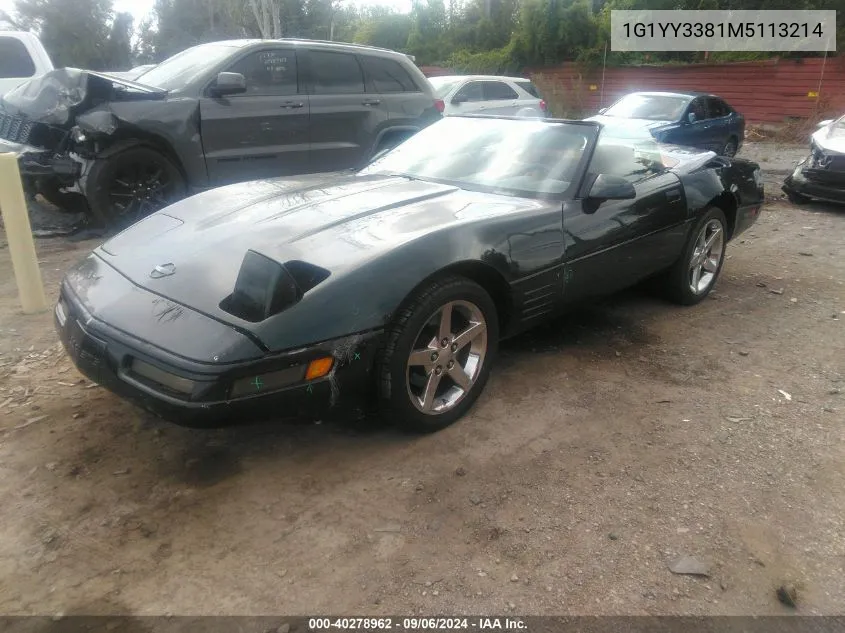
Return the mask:
<svg viewBox="0 0 845 633">
<path fill-rule="evenodd" d="M 159 100 L 167 92 L 75 68 L 53 70 L 0 98 L 0 152 L 18 157 L 24 190 L 81 193 L 91 161 L 108 144 L 118 122 L 107 110 L 117 101 Z"/>
</svg>

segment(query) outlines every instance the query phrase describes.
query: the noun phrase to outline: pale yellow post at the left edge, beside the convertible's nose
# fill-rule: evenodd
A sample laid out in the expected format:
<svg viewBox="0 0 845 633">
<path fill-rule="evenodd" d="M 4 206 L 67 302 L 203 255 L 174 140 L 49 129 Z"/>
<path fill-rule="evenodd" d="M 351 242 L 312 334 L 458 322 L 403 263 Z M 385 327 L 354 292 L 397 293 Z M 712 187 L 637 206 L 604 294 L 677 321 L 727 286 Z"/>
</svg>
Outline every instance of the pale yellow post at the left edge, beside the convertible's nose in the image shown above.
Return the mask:
<svg viewBox="0 0 845 633">
<path fill-rule="evenodd" d="M 47 298 L 38 268 L 18 160 L 9 153 L 0 154 L 0 213 L 6 227 L 6 240 L 23 311 L 32 314 L 46 310 Z"/>
</svg>

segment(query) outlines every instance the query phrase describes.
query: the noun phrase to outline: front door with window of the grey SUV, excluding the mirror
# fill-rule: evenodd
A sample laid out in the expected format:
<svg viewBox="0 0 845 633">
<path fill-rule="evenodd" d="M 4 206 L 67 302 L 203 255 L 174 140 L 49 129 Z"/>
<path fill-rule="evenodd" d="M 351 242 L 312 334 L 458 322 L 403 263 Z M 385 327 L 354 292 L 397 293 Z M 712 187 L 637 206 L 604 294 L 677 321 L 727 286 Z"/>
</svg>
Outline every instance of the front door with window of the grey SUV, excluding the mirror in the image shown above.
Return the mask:
<svg viewBox="0 0 845 633">
<path fill-rule="evenodd" d="M 212 186 L 299 174 L 308 167 L 308 95 L 293 48 L 254 50 L 226 69 L 246 92 L 200 99 L 202 145 Z"/>
</svg>

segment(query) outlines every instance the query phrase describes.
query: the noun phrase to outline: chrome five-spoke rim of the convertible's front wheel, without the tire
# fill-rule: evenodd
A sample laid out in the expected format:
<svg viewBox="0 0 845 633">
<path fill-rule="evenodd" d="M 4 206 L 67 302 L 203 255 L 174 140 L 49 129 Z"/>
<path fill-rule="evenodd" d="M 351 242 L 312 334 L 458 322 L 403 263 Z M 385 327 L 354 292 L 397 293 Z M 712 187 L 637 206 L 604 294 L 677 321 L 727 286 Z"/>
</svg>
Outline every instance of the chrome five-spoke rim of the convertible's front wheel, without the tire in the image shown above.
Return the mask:
<svg viewBox="0 0 845 633">
<path fill-rule="evenodd" d="M 408 357 L 411 402 L 427 415 L 453 409 L 481 374 L 487 354 L 487 322 L 469 301 L 450 301 L 420 328 Z"/>
</svg>

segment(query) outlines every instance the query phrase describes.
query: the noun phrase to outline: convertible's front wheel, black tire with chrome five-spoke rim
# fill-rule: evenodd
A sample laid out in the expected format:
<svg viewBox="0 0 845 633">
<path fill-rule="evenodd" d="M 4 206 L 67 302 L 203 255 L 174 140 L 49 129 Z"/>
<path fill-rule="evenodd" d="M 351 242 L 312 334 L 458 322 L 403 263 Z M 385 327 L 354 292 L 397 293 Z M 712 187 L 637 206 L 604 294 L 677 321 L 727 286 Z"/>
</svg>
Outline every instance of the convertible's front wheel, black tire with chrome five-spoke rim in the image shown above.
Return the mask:
<svg viewBox="0 0 845 633">
<path fill-rule="evenodd" d="M 422 288 L 397 314 L 379 357 L 382 416 L 417 433 L 453 424 L 484 389 L 498 342 L 484 288 L 457 276 Z"/>
</svg>

